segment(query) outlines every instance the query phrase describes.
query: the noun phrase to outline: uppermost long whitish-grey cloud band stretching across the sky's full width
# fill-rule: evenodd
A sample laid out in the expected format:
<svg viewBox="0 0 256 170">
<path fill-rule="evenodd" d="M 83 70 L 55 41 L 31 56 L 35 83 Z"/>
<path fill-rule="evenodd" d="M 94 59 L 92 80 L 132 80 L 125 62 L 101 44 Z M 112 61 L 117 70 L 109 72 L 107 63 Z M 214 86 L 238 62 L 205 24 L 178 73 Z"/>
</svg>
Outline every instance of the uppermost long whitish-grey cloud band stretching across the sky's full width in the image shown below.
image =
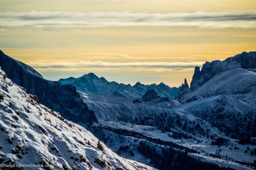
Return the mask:
<svg viewBox="0 0 256 170">
<path fill-rule="evenodd" d="M 107 26 L 186 26 L 256 28 L 256 10 L 194 13 L 128 13 L 69 11 L 1 12 L 1 27 L 95 28 Z"/>
</svg>

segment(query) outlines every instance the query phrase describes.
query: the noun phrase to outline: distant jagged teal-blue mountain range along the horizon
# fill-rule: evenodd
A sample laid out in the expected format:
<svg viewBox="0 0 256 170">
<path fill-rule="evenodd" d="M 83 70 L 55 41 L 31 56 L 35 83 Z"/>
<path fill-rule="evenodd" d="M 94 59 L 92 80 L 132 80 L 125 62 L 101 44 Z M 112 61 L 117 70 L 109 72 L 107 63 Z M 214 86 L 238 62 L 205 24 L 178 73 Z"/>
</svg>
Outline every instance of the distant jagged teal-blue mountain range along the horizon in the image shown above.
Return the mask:
<svg viewBox="0 0 256 170">
<path fill-rule="evenodd" d="M 137 82 L 135 85 L 124 85 L 123 83 L 108 82 L 104 77 L 97 77 L 94 73 L 85 74 L 82 77 L 68 79 L 60 79 L 58 81 L 62 84 L 71 84 L 77 88 L 78 91 L 87 93 L 89 95 L 103 95 L 103 96 L 115 96 L 115 97 L 129 97 L 141 99 L 147 90 L 154 89 L 159 96 L 168 97 L 168 99 L 174 99 L 178 94 L 180 87 L 170 88 L 164 83 L 155 83 L 152 85 L 144 85 Z"/>
</svg>

